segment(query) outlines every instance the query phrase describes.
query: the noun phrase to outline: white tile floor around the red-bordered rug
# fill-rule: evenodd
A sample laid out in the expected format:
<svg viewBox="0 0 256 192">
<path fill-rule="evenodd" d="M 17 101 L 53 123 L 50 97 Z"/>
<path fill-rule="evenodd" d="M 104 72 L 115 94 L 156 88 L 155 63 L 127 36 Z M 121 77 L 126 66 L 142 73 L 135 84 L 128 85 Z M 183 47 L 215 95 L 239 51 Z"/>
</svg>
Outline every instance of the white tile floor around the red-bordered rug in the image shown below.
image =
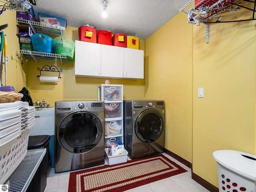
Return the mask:
<svg viewBox="0 0 256 192">
<path fill-rule="evenodd" d="M 167 156 L 170 158 L 170 160 L 188 170 L 188 172 L 133 188 L 127 190 L 126 192 L 209 192 L 206 188 L 192 180 L 190 168 L 166 153 L 163 153 L 163 155 Z M 44 192 L 68 192 L 69 173 L 70 172 L 62 172 L 55 174 L 54 168 L 49 168 L 47 185 Z"/>
</svg>

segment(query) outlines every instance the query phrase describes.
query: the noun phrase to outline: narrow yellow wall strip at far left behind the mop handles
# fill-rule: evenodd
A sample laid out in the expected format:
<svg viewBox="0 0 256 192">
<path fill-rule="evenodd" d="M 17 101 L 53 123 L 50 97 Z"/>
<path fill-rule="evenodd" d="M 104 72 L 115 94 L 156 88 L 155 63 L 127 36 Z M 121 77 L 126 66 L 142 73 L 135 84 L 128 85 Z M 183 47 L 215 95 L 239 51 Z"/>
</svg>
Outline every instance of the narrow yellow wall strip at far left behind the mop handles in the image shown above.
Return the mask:
<svg viewBox="0 0 256 192">
<path fill-rule="evenodd" d="M 16 92 L 19 92 L 24 86 L 26 86 L 26 74 L 23 73 L 22 63 L 20 57 L 16 58 L 16 53 L 19 53 L 18 37 L 16 36 L 16 12 L 9 12 L 6 10 L 0 15 L 0 25 L 8 24 L 8 27 L 2 31 L 6 35 L 7 40 L 7 54 L 9 55 L 7 64 L 7 84 L 5 84 L 5 72 L 3 64 L 2 70 L 2 84 L 5 86 L 14 86 Z M 22 78 L 24 74 L 24 80 Z"/>
</svg>

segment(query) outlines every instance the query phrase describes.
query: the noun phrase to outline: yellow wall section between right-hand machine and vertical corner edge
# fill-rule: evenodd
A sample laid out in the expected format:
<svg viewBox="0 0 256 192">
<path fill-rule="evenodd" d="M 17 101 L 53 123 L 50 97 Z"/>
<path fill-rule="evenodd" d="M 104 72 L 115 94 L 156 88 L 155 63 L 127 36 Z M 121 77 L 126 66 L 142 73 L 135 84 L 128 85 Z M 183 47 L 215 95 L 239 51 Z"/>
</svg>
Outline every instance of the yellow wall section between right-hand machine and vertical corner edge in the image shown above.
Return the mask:
<svg viewBox="0 0 256 192">
<path fill-rule="evenodd" d="M 186 14 L 146 39 L 145 66 L 145 97 L 165 101 L 165 148 L 192 162 L 192 26 Z"/>
</svg>

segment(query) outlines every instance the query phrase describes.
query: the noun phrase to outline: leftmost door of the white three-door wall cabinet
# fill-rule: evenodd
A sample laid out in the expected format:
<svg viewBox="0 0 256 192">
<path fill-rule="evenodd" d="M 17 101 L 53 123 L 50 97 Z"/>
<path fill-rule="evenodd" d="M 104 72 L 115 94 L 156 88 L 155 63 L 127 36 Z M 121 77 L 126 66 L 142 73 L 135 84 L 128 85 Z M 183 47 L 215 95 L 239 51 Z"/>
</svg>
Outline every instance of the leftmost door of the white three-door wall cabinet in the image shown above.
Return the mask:
<svg viewBox="0 0 256 192">
<path fill-rule="evenodd" d="M 100 44 L 76 41 L 75 44 L 75 75 L 101 75 L 101 46 Z"/>
</svg>

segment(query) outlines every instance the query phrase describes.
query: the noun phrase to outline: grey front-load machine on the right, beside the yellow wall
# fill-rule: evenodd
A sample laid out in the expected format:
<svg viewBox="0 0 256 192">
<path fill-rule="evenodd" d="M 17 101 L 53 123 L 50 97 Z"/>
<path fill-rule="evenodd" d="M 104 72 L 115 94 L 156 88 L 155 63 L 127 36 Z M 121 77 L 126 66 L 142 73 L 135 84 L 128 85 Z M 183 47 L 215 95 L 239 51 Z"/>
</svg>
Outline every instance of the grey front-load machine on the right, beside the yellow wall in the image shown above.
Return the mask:
<svg viewBox="0 0 256 192">
<path fill-rule="evenodd" d="M 124 100 L 124 148 L 130 158 L 164 152 L 162 100 Z"/>
</svg>

